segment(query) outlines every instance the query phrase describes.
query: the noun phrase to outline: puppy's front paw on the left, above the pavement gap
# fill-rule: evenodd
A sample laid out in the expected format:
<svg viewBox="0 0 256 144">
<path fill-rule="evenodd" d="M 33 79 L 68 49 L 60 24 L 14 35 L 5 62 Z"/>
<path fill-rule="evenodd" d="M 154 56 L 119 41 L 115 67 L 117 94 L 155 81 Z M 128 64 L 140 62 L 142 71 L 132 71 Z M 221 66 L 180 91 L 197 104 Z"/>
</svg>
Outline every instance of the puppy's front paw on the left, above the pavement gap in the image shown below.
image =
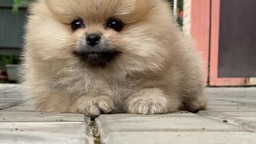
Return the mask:
<svg viewBox="0 0 256 144">
<path fill-rule="evenodd" d="M 87 117 L 97 117 L 100 114 L 109 114 L 113 111 L 115 111 L 114 102 L 107 96 L 81 97 L 70 108 L 71 113 L 82 113 Z"/>
</svg>

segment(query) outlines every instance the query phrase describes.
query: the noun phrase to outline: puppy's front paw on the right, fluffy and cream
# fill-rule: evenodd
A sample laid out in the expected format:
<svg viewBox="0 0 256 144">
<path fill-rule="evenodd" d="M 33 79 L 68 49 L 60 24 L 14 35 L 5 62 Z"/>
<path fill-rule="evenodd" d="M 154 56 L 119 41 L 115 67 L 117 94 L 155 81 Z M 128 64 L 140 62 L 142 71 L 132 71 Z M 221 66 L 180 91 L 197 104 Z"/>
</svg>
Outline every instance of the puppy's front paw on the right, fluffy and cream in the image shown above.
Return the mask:
<svg viewBox="0 0 256 144">
<path fill-rule="evenodd" d="M 126 111 L 131 114 L 154 115 L 168 113 L 167 98 L 156 89 L 134 93 L 126 101 Z"/>
</svg>

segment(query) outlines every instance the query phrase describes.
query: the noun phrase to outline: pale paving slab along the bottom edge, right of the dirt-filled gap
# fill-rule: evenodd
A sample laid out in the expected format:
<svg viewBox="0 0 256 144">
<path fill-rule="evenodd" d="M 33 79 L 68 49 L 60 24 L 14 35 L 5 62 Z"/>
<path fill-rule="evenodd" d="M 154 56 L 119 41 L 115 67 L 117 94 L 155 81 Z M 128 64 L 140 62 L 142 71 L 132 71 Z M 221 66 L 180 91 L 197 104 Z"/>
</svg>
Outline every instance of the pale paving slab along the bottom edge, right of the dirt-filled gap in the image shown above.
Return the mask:
<svg viewBox="0 0 256 144">
<path fill-rule="evenodd" d="M 254 132 L 111 132 L 102 140 L 105 144 L 254 144 Z"/>
</svg>

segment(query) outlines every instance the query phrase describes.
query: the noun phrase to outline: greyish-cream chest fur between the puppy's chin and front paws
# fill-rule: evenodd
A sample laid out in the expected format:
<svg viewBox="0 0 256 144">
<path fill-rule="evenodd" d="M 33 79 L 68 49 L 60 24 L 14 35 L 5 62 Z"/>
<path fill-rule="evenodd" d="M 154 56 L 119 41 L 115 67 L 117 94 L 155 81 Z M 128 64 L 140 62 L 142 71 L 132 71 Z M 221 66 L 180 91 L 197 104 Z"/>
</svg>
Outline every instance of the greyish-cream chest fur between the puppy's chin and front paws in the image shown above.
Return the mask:
<svg viewBox="0 0 256 144">
<path fill-rule="evenodd" d="M 139 81 L 118 76 L 103 77 L 85 73 L 58 75 L 54 78 L 55 89 L 68 97 L 98 97 L 107 95 L 114 100 L 123 102 L 139 87 Z"/>
</svg>

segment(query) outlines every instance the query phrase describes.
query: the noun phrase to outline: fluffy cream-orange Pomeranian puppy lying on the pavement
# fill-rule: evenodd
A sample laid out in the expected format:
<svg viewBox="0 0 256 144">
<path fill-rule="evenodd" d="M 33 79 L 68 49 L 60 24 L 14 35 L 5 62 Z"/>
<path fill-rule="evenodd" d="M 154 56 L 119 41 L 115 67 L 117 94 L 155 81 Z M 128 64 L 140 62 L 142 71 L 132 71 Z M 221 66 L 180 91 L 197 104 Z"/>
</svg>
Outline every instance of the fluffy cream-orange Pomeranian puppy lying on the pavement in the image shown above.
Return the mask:
<svg viewBox="0 0 256 144">
<path fill-rule="evenodd" d="M 23 52 L 38 111 L 166 114 L 205 108 L 201 60 L 163 0 L 41 0 Z"/>
</svg>

